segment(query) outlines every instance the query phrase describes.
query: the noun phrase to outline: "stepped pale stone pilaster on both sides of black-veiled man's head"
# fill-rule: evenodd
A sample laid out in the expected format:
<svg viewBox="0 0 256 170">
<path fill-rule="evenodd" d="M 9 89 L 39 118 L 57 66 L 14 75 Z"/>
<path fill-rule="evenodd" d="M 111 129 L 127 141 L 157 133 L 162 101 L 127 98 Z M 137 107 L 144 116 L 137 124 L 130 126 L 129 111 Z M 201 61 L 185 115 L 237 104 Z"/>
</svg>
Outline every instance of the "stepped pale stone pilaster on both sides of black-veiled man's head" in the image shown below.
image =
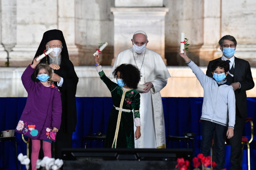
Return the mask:
<svg viewBox="0 0 256 170">
<path fill-rule="evenodd" d="M 11 2 L 11 1 L 10 1 Z M 59 29 L 67 42 L 70 60 L 77 64 L 73 0 L 17 1 L 16 45 L 10 52 L 10 66 L 26 66 L 32 62 L 45 31 Z M 14 20 L 15 20 L 14 19 Z M 14 36 L 14 35 L 12 35 Z"/>
</svg>

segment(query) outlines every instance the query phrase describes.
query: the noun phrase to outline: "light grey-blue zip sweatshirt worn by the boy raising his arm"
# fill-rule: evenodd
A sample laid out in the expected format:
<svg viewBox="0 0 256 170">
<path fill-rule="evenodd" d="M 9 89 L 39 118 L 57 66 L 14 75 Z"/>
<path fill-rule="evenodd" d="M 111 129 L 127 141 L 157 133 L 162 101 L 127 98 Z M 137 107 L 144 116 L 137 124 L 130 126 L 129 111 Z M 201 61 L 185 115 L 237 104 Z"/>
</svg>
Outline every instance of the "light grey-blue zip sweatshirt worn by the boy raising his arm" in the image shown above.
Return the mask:
<svg viewBox="0 0 256 170">
<path fill-rule="evenodd" d="M 231 85 L 220 85 L 190 60 L 187 63 L 204 89 L 202 120 L 233 128 L 236 119 L 236 99 Z"/>
</svg>

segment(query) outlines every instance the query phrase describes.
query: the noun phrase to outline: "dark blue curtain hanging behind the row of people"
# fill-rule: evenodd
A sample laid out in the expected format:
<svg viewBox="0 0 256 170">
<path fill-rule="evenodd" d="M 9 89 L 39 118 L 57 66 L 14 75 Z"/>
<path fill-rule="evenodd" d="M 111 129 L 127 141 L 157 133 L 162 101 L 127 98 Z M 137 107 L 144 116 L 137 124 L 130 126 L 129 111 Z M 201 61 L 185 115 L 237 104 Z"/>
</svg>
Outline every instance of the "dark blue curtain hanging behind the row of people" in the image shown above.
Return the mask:
<svg viewBox="0 0 256 170">
<path fill-rule="evenodd" d="M 162 98 L 165 117 L 166 136 L 183 136 L 184 132 L 196 133 L 195 155 L 200 152 L 202 97 L 168 97 Z M 106 133 L 108 118 L 112 108 L 111 97 L 77 97 L 77 126 L 73 133 L 73 147 L 84 147 L 81 137 L 88 134 L 102 132 Z M 0 131 L 15 129 L 23 108 L 26 104 L 26 97 L 0 98 Z M 256 98 L 247 98 L 248 117 L 256 122 Z M 17 136 L 17 152 L 26 155 L 26 144 L 22 141 L 21 135 Z M 246 125 L 244 136 L 250 138 L 250 127 Z M 256 139 L 250 144 L 251 170 L 256 170 Z M 170 143 L 166 144 L 170 147 Z M 102 147 L 102 142 L 87 142 L 87 147 Z M 184 141 L 173 142 L 174 148 L 186 148 Z M 189 147 L 192 145 L 189 143 Z M 3 167 L 3 144 L 0 142 L 0 169 Z M 247 169 L 247 147 L 244 147 L 243 169 Z M 227 170 L 230 169 L 230 146 L 226 146 Z M 15 143 L 5 142 L 5 169 L 15 170 Z"/>
</svg>

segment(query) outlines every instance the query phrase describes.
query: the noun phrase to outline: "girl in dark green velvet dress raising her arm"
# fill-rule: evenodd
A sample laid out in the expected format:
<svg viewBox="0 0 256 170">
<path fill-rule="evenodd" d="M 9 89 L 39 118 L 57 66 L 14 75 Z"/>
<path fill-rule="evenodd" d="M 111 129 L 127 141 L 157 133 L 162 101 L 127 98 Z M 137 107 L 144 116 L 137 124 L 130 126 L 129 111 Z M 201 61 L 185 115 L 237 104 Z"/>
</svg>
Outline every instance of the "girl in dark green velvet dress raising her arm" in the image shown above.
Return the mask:
<svg viewBox="0 0 256 170">
<path fill-rule="evenodd" d="M 99 55 L 95 56 L 96 70 L 107 85 L 113 100 L 105 146 L 109 148 L 134 148 L 135 140 L 140 138 L 140 94 L 136 89 L 140 82 L 139 69 L 131 64 L 122 64 L 113 72 L 117 84 L 103 72 Z M 134 113 L 132 112 L 134 110 Z M 133 116 L 134 114 L 134 116 Z M 134 123 L 136 131 L 134 133 Z"/>
</svg>

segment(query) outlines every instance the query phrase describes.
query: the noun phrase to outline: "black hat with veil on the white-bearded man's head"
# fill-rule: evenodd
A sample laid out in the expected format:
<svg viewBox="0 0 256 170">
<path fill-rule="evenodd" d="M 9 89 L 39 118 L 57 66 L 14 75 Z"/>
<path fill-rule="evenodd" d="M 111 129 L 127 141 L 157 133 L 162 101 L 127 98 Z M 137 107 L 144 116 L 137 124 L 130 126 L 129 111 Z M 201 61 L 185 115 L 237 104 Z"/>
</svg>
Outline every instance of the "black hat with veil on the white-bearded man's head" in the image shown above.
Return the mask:
<svg viewBox="0 0 256 170">
<path fill-rule="evenodd" d="M 44 53 L 44 50 L 46 49 L 45 45 L 51 40 L 60 40 L 62 42 L 63 48 L 61 50 L 61 58 L 69 59 L 66 41 L 64 39 L 62 31 L 58 29 L 52 29 L 44 33 L 38 50 L 35 53 L 35 57 L 38 57 L 39 55 Z"/>
</svg>

